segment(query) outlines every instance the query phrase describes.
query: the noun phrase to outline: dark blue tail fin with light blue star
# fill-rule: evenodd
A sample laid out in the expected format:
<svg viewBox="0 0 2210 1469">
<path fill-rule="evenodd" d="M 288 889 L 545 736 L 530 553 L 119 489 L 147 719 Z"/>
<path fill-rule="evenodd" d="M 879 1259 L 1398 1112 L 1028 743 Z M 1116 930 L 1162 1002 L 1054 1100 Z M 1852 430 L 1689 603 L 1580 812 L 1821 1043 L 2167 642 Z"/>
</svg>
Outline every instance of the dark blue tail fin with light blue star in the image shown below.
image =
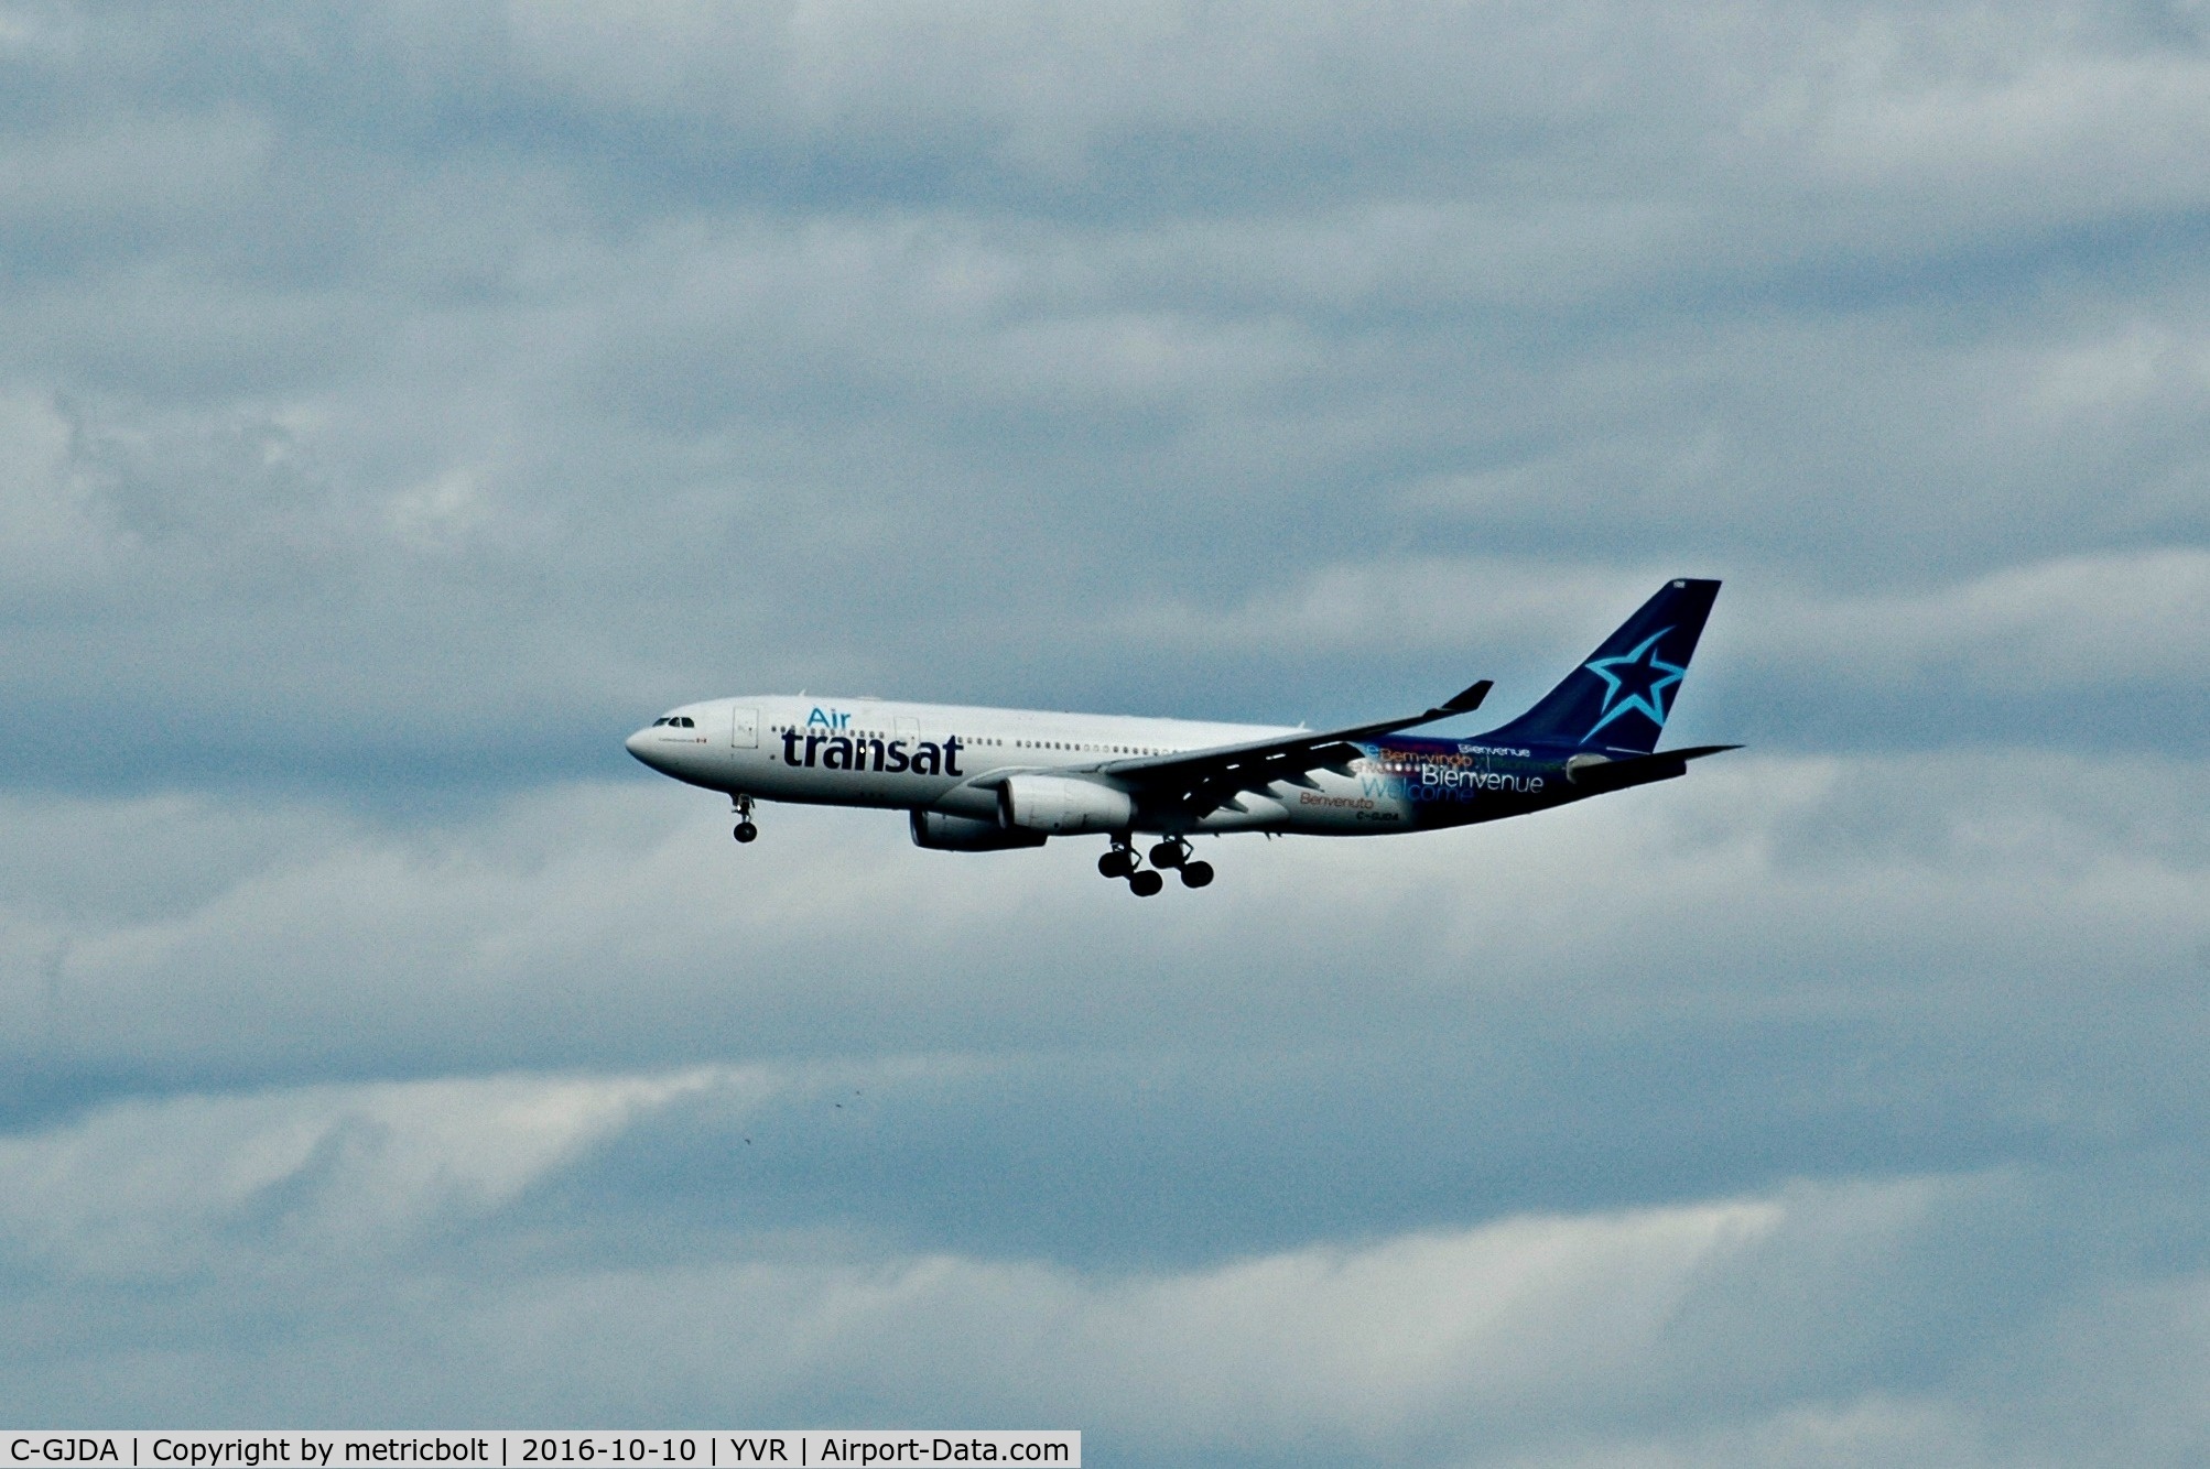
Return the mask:
<svg viewBox="0 0 2210 1469">
<path fill-rule="evenodd" d="M 1717 596 L 1717 581 L 1669 581 L 1543 702 L 1481 740 L 1633 755 L 1658 749 L 1664 716 Z"/>
</svg>

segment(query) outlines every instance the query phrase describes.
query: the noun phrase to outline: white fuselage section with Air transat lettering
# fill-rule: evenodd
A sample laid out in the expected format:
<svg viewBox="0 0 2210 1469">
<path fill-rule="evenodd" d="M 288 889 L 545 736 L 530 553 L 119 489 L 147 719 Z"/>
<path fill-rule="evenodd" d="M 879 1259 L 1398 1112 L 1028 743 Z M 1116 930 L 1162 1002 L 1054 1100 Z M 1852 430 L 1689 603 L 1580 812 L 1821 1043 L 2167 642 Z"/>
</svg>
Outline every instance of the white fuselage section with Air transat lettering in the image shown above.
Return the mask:
<svg viewBox="0 0 2210 1469">
<path fill-rule="evenodd" d="M 939 811 L 992 820 L 979 778 L 1054 773 L 1112 760 L 1291 736 L 1275 725 L 1216 725 L 1041 709 L 975 709 L 873 698 L 716 698 L 672 709 L 628 740 L 652 769 L 709 791 L 776 802 Z M 1187 831 L 1403 831 L 1403 782 L 1370 771 L 1311 771 L 1297 784 L 1244 791 Z"/>
</svg>

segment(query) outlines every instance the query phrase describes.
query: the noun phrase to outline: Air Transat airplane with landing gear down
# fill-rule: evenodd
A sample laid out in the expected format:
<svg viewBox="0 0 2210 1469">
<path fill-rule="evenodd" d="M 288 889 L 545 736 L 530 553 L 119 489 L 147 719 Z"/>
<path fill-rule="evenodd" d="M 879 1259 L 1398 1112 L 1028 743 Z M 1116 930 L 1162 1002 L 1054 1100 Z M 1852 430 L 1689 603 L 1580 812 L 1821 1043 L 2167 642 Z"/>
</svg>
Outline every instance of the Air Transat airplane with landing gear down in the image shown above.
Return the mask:
<svg viewBox="0 0 2210 1469">
<path fill-rule="evenodd" d="M 1658 590 L 1527 714 L 1474 738 L 1406 731 L 1472 714 L 1492 680 L 1406 718 L 1346 729 L 1209 725 L 880 698 L 740 696 L 670 709 L 628 738 L 654 771 L 754 804 L 906 811 L 944 853 L 1103 835 L 1098 873 L 1154 897 L 1171 870 L 1213 881 L 1189 837 L 1372 837 L 1467 826 L 1673 780 L 1739 744 L 1658 749 L 1717 581 Z M 1149 866 L 1136 837 L 1158 837 Z"/>
</svg>

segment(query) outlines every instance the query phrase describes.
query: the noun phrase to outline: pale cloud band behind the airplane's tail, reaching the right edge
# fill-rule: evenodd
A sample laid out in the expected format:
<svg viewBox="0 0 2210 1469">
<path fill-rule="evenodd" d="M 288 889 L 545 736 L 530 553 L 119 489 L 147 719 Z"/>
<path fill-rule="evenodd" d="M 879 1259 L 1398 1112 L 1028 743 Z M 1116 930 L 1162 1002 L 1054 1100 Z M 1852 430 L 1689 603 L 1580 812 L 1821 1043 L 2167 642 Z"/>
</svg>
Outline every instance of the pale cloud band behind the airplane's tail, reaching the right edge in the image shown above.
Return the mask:
<svg viewBox="0 0 2210 1469">
<path fill-rule="evenodd" d="M 1112 636 L 1204 665 L 1317 654 L 1417 689 L 1436 687 L 1443 669 L 1478 669 L 1501 676 L 1492 714 L 1503 714 L 1571 669 L 1664 577 L 1706 570 L 1337 563 L 1240 605 L 1134 610 Z M 1675 742 L 2192 751 L 2203 716 L 2188 669 L 2210 660 L 2206 627 L 2210 557 L 2192 548 L 2016 563 L 1936 588 L 1748 577 L 1719 599 Z"/>
</svg>

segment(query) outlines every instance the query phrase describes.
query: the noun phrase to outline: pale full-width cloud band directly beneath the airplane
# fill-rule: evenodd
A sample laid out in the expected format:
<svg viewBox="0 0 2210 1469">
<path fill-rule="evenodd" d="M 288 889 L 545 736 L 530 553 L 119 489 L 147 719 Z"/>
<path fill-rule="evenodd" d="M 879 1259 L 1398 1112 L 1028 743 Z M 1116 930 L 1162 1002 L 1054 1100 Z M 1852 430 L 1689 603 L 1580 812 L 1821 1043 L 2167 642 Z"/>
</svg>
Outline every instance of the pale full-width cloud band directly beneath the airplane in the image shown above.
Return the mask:
<svg viewBox="0 0 2210 1469">
<path fill-rule="evenodd" d="M 2055 1014 L 2082 970 L 2157 974 L 2203 939 L 2201 844 L 2170 822 L 2195 784 L 2155 760 L 1730 755 L 1501 826 L 1229 839 L 1213 890 L 1158 903 L 1101 884 L 1087 844 L 944 857 L 895 815 L 776 809 L 736 850 L 712 797 L 636 784 L 415 833 L 38 800 L 4 992 L 18 1065 L 239 1078 L 1472 1034 L 1505 996 L 1633 1025 L 1843 1003 L 1837 972 L 1874 1010 L 1980 1007 L 2000 972 Z M 192 881 L 179 848 L 206 848 Z M 1386 976 L 1346 983 L 1375 952 Z"/>
</svg>

